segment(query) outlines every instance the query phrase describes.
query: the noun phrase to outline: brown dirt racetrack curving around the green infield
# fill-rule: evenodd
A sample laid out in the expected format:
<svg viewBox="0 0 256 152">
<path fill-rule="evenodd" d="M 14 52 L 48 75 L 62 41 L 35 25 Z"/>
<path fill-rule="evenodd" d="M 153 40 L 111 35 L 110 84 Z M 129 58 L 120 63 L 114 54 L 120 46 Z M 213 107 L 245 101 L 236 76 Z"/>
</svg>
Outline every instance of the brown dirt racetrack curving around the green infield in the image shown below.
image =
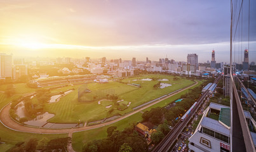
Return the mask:
<svg viewBox="0 0 256 152">
<path fill-rule="evenodd" d="M 44 128 L 39 128 L 39 127 L 29 127 L 27 125 L 22 125 L 22 124 L 19 124 L 18 122 L 15 122 L 10 117 L 10 113 L 9 113 L 9 111 L 11 109 L 10 103 L 1 109 L 0 122 L 8 129 L 19 131 L 19 132 L 30 132 L 30 133 L 36 133 L 36 134 L 71 134 L 72 132 L 80 132 L 83 130 L 96 129 L 99 127 L 104 127 L 105 125 L 113 124 L 115 122 L 123 120 L 124 118 L 130 117 L 131 115 L 134 115 L 135 113 L 145 110 L 146 108 L 149 108 L 150 106 L 153 106 L 156 103 L 159 103 L 167 98 L 170 98 L 171 96 L 174 96 L 175 94 L 178 94 L 179 92 L 185 91 L 186 89 L 189 89 L 190 87 L 193 87 L 196 84 L 198 84 L 198 82 L 195 82 L 193 85 L 190 85 L 188 87 L 185 87 L 184 89 L 181 89 L 180 91 L 170 94 L 169 96 L 166 96 L 165 98 L 159 99 L 158 101 L 155 101 L 154 103 L 151 103 L 147 106 L 139 108 L 138 110 L 132 111 L 131 113 L 128 113 L 127 115 L 124 115 L 123 117 L 119 117 L 115 120 L 111 120 L 109 122 L 105 122 L 105 123 L 97 124 L 97 125 L 77 127 L 77 128 L 72 128 L 72 129 L 44 129 Z"/>
</svg>

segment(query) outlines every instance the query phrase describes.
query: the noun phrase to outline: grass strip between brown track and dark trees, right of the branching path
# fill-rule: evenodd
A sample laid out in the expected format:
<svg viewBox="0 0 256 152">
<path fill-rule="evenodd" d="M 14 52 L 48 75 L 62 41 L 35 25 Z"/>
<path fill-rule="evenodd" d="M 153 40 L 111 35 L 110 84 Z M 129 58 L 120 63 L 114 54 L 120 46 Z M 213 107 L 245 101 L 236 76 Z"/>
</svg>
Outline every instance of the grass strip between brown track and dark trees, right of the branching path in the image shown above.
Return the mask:
<svg viewBox="0 0 256 152">
<path fill-rule="evenodd" d="M 76 132 L 72 136 L 72 146 L 75 151 L 82 151 L 84 143 L 88 141 L 93 141 L 95 139 L 102 139 L 107 137 L 107 128 L 111 126 L 118 127 L 118 130 L 123 130 L 129 125 L 133 124 L 133 122 L 140 122 L 142 120 L 142 113 L 136 113 L 135 115 L 131 115 L 128 118 L 120 120 L 111 125 L 107 125 L 104 127 L 100 127 L 98 129 L 86 130 L 82 132 Z"/>
</svg>

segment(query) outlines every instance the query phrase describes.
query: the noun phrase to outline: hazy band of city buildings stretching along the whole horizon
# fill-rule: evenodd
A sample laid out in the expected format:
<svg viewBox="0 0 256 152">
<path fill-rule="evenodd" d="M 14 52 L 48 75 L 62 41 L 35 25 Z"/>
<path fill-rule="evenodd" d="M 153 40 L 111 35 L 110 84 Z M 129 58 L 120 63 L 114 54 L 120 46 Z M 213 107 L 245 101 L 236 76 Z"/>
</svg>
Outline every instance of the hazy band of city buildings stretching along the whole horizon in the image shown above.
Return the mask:
<svg viewBox="0 0 256 152">
<path fill-rule="evenodd" d="M 245 58 L 243 64 L 236 65 L 239 75 L 245 80 L 252 80 L 255 78 L 255 70 L 249 70 L 248 63 L 248 50 L 245 49 Z M 72 68 L 68 65 L 74 65 Z M 169 58 L 160 58 L 159 61 L 151 61 L 146 58 L 145 61 L 137 61 L 136 58 L 131 60 L 111 59 L 107 60 L 106 57 L 100 59 L 91 59 L 90 57 L 85 57 L 81 59 L 76 58 L 40 58 L 40 59 L 26 59 L 24 58 L 14 58 L 12 54 L 0 54 L 0 80 L 19 80 L 24 75 L 30 75 L 29 79 L 32 82 L 40 82 L 43 80 L 49 81 L 59 80 L 59 79 L 70 79 L 70 77 L 75 77 L 74 75 L 84 75 L 84 74 L 95 74 L 95 75 L 111 75 L 112 77 L 128 77 L 137 75 L 138 71 L 144 70 L 147 72 L 166 72 L 166 73 L 176 73 L 179 75 L 194 75 L 198 77 L 215 77 L 221 69 L 227 66 L 226 63 L 216 63 L 215 61 L 215 51 L 212 51 L 212 60 L 206 63 L 198 62 L 198 54 L 187 54 L 187 61 L 175 61 Z M 58 73 L 62 73 L 63 77 L 54 77 L 57 75 L 49 75 L 48 72 L 40 73 L 29 73 L 28 69 L 36 69 L 38 66 L 55 66 L 62 65 L 61 68 L 56 68 Z M 251 65 L 255 65 L 252 62 Z M 88 73 L 84 73 L 84 71 Z M 71 75 L 71 76 L 69 76 Z M 227 75 L 227 74 L 224 74 Z M 69 77 L 67 77 L 69 76 Z M 50 78 L 49 78 L 50 77 Z M 84 76 L 87 77 L 87 76 Z M 225 77 L 228 82 L 229 76 Z M 86 78 L 87 79 L 87 78 Z M 83 80 L 83 79 L 81 79 Z M 227 83 L 228 84 L 228 83 Z M 228 89 L 227 89 L 228 91 Z"/>
</svg>

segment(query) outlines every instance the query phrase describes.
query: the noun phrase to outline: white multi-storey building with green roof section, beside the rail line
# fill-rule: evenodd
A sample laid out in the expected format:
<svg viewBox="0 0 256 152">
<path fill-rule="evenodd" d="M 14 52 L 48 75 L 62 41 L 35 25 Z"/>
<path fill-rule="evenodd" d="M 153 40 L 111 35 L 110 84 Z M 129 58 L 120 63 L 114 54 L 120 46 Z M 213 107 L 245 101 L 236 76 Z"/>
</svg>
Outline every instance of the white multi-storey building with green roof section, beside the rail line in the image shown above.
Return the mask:
<svg viewBox="0 0 256 152">
<path fill-rule="evenodd" d="M 244 113 L 249 124 L 255 126 L 256 123 L 250 113 L 248 111 Z M 210 103 L 203 112 L 194 134 L 189 138 L 189 151 L 230 151 L 230 126 L 229 106 Z M 251 134 L 255 136 L 255 133 L 251 132 Z"/>
</svg>

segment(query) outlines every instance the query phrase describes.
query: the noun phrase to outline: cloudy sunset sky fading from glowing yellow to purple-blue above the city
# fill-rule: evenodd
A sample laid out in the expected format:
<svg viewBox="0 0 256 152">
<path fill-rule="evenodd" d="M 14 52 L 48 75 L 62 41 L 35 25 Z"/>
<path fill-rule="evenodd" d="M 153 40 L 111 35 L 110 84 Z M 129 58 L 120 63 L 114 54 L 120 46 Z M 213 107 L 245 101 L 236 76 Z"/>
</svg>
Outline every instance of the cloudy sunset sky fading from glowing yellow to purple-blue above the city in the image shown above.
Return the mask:
<svg viewBox="0 0 256 152">
<path fill-rule="evenodd" d="M 245 48 L 256 59 L 256 2 L 250 1 L 249 45 L 248 6 L 234 37 L 238 63 Z M 222 0 L 0 0 L 0 53 L 156 61 L 196 53 L 205 62 L 214 49 L 217 62 L 229 62 L 230 14 L 230 1 Z"/>
</svg>

